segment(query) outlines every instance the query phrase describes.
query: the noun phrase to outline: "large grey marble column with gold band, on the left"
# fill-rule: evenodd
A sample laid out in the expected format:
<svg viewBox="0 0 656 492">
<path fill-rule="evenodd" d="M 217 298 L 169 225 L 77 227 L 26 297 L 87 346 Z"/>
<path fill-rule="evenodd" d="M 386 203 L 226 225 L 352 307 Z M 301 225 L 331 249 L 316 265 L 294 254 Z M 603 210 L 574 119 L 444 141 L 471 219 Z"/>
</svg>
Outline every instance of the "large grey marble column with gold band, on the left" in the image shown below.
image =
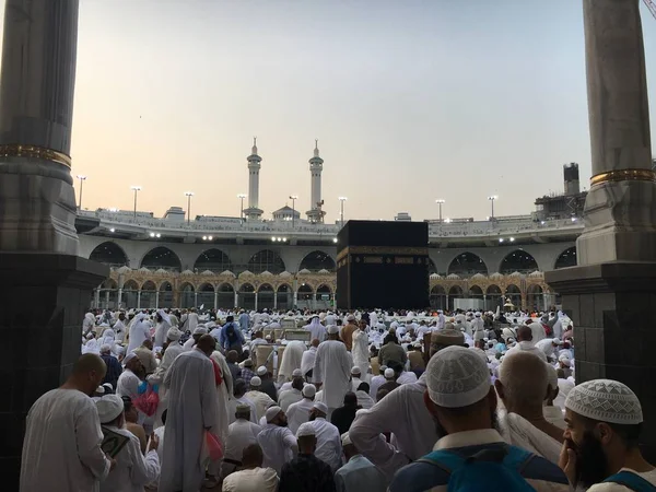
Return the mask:
<svg viewBox="0 0 656 492">
<path fill-rule="evenodd" d="M 70 173 L 78 0 L 7 0 L 0 78 L 0 473 L 19 490 L 25 415 L 80 355 L 108 268 L 80 258 Z M 99 301 L 99 300 L 98 300 Z"/>
</svg>

